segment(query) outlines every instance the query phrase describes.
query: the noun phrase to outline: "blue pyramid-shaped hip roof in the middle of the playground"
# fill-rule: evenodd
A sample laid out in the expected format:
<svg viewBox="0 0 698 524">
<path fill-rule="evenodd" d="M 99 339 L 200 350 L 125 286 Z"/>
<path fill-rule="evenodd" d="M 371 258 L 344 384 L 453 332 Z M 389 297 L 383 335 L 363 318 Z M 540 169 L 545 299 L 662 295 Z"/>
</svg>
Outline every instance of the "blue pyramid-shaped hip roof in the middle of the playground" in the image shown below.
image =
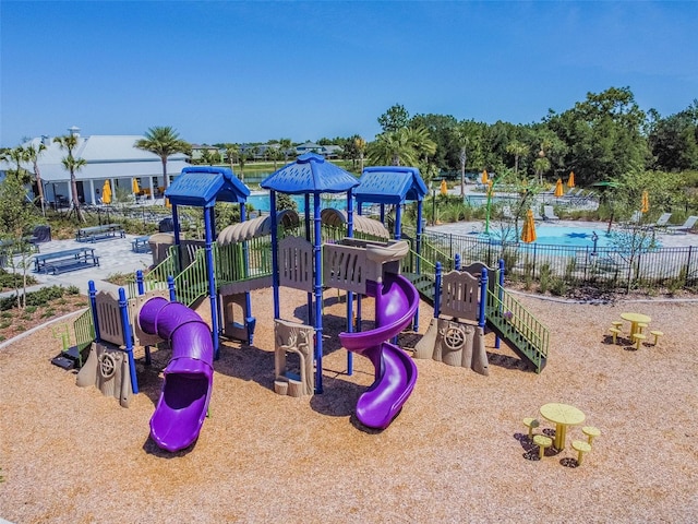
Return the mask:
<svg viewBox="0 0 698 524">
<path fill-rule="evenodd" d="M 357 177 L 315 153 L 299 156 L 266 177 L 260 186 L 288 194 L 344 193 L 359 186 Z"/>
</svg>

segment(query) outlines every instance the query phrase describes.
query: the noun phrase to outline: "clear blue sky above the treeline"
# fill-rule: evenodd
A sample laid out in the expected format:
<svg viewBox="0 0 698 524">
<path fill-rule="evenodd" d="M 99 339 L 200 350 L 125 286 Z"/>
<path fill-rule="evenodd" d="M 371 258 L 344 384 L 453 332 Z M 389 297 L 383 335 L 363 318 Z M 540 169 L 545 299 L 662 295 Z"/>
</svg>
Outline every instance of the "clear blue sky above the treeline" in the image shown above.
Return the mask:
<svg viewBox="0 0 698 524">
<path fill-rule="evenodd" d="M 698 2 L 0 2 L 0 145 L 142 134 L 192 143 L 361 134 L 410 115 L 540 121 L 629 86 L 698 98 Z"/>
</svg>

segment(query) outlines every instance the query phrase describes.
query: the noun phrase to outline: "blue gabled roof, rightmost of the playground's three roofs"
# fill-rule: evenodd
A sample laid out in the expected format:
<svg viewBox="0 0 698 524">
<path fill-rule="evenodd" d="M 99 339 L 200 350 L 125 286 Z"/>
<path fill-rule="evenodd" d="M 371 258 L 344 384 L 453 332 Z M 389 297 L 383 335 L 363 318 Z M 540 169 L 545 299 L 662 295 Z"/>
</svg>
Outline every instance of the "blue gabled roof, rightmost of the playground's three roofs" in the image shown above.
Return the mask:
<svg viewBox="0 0 698 524">
<path fill-rule="evenodd" d="M 361 184 L 353 192 L 359 204 L 401 204 L 424 200 L 429 193 L 416 167 L 365 167 L 359 181 Z"/>
</svg>

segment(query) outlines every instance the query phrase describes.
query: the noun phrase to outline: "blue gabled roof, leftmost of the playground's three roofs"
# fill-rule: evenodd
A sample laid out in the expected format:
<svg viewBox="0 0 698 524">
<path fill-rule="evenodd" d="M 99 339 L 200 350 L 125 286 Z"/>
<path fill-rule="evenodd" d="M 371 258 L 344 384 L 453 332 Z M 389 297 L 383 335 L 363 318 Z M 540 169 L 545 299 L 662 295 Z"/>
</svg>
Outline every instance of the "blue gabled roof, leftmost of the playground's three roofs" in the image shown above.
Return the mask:
<svg viewBox="0 0 698 524">
<path fill-rule="evenodd" d="M 244 203 L 250 190 L 227 167 L 185 167 L 165 191 L 174 205 L 207 207 L 216 202 Z"/>
</svg>

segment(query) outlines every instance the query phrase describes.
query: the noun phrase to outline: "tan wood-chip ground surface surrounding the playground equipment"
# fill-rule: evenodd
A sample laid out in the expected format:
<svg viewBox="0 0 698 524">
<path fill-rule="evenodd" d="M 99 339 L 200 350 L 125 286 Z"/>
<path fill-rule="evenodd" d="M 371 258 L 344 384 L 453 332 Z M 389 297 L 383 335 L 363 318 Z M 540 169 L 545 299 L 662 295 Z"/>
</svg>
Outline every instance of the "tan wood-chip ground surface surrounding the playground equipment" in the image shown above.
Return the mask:
<svg viewBox="0 0 698 524">
<path fill-rule="evenodd" d="M 304 295 L 282 290 L 282 317 Z M 542 374 L 488 335 L 490 376 L 417 360 L 419 380 L 385 431 L 352 416 L 372 383 L 348 377 L 336 334 L 346 306 L 325 308 L 322 395 L 274 393 L 272 293 L 253 295 L 255 345 L 226 343 L 210 418 L 169 454 L 148 438 L 168 352 L 139 364 L 130 408 L 52 366 L 50 329 L 0 350 L 0 517 L 16 523 L 695 522 L 698 515 L 698 303 L 588 306 L 521 297 L 551 330 Z M 609 343 L 621 312 L 665 336 L 631 350 Z M 364 314 L 372 312 L 366 301 Z M 420 309 L 423 334 L 432 309 Z M 627 327 L 626 327 L 627 330 Z M 412 347 L 420 335 L 404 334 Z M 565 449 L 543 461 L 521 420 L 547 402 L 577 406 L 602 434 L 580 467 Z M 540 418 L 540 417 L 539 417 Z M 551 432 L 553 426 L 540 428 Z M 581 439 L 571 428 L 569 440 Z"/>
</svg>

